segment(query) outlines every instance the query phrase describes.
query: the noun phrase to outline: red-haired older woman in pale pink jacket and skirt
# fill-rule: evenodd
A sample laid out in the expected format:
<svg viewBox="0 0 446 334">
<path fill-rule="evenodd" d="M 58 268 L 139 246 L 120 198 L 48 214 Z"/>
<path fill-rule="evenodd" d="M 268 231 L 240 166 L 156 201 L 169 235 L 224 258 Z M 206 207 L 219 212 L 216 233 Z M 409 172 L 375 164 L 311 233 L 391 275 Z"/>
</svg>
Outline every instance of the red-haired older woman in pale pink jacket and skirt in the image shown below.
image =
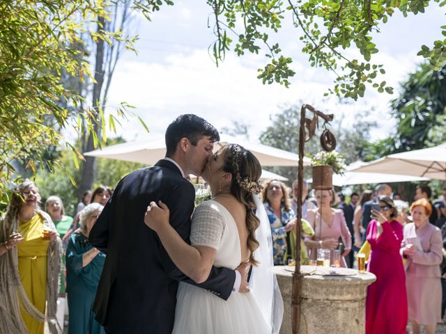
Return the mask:
<svg viewBox="0 0 446 334">
<path fill-rule="evenodd" d="M 441 231 L 429 223 L 432 206 L 424 198 L 410 205 L 413 223 L 404 226 L 401 253 L 406 258 L 406 288 L 413 334 L 435 333 L 441 321 L 440 263 L 443 260 Z"/>
</svg>

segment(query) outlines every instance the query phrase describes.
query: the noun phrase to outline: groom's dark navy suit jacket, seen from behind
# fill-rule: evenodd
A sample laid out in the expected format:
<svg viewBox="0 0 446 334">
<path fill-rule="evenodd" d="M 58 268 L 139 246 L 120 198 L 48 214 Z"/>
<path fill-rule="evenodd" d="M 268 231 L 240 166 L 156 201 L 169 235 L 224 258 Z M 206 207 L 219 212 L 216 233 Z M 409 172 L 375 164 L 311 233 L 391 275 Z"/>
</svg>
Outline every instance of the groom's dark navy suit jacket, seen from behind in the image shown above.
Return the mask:
<svg viewBox="0 0 446 334">
<path fill-rule="evenodd" d="M 178 281 L 197 284 L 170 260 L 144 214 L 149 202 L 162 200 L 170 209 L 171 225 L 188 242 L 194 198 L 194 186 L 164 159 L 130 173 L 116 186 L 89 235 L 90 244 L 107 253 L 93 304 L 107 331 L 171 333 Z M 226 300 L 235 279 L 235 271 L 213 267 L 208 280 L 197 286 Z"/>
</svg>

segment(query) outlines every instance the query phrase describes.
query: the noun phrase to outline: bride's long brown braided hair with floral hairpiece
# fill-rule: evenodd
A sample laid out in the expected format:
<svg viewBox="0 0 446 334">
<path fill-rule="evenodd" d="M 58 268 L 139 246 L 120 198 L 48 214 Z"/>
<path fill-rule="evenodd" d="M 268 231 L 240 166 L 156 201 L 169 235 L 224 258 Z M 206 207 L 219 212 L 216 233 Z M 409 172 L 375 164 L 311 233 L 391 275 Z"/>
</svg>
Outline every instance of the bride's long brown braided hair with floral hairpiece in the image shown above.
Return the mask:
<svg viewBox="0 0 446 334">
<path fill-rule="evenodd" d="M 252 193 L 260 193 L 262 186 L 259 184 L 261 165 L 259 160 L 240 145 L 231 144 L 225 147 L 223 170 L 231 173 L 231 193 L 246 207 L 246 226 L 248 230 L 247 246 L 250 251 L 249 262 L 258 264 L 254 260 L 254 250 L 259 248 L 259 241 L 255 233 L 259 228 L 259 218 L 254 214 L 256 205 L 252 199 Z"/>
</svg>

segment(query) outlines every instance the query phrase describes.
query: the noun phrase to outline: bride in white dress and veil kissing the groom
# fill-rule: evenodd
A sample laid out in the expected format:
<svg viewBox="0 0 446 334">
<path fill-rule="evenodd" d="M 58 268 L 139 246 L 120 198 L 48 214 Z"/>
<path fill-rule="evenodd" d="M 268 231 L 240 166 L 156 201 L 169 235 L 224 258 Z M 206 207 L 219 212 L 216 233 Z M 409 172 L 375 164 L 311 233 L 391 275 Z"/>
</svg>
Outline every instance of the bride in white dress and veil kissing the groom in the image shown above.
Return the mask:
<svg viewBox="0 0 446 334">
<path fill-rule="evenodd" d="M 213 265 L 236 269 L 248 261 L 254 266 L 251 291 L 233 293 L 227 301 L 180 283 L 173 333 L 279 333 L 283 302 L 271 271 L 268 218 L 256 196 L 260 175 L 259 160 L 240 145 L 227 145 L 214 154 L 202 175 L 213 198 L 194 211 L 191 245 L 169 225 L 164 203 L 148 207 L 146 225 L 157 232 L 178 269 L 196 283 L 208 278 Z"/>
</svg>

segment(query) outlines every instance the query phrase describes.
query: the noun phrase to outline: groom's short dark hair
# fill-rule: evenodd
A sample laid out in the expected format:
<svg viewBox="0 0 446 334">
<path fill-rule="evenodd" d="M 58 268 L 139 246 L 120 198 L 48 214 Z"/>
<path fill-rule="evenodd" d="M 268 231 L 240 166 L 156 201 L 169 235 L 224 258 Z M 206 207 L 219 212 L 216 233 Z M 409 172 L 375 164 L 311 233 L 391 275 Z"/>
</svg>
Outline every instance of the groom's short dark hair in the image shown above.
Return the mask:
<svg viewBox="0 0 446 334">
<path fill-rule="evenodd" d="M 203 136 L 208 136 L 213 141 L 220 141 L 217 129 L 203 118 L 192 113 L 178 116 L 166 130 L 166 157 L 175 153 L 176 145 L 181 138 L 186 137 L 195 146 Z"/>
</svg>

